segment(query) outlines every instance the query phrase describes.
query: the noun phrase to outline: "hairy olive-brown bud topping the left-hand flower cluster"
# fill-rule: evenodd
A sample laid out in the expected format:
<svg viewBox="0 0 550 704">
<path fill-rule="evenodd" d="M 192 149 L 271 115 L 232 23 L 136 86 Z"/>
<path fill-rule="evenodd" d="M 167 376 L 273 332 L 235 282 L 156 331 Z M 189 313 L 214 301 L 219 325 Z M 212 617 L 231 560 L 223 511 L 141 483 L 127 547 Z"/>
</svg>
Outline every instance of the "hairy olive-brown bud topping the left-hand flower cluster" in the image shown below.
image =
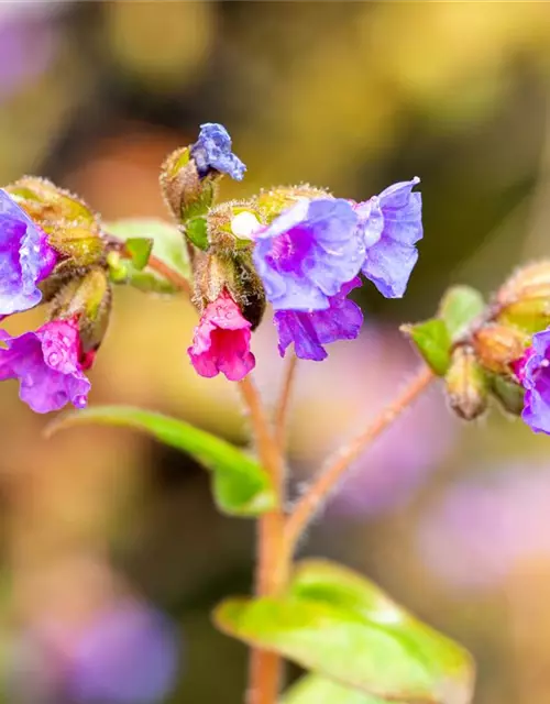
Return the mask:
<svg viewBox="0 0 550 704">
<path fill-rule="evenodd" d="M 6 190 L 47 234 L 61 264 L 89 266 L 106 252 L 97 216 L 88 206 L 44 178 L 25 176 Z"/>
</svg>

